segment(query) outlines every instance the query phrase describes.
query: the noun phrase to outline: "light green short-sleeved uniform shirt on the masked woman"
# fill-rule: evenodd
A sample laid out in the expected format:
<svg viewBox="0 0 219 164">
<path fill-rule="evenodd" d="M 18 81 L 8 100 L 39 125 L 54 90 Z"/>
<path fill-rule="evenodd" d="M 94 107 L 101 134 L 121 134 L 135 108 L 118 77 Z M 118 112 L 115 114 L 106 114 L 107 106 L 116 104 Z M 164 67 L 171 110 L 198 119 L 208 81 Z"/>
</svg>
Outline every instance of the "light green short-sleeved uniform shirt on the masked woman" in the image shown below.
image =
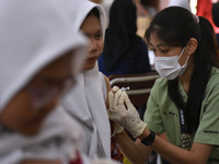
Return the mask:
<svg viewBox="0 0 219 164">
<path fill-rule="evenodd" d="M 180 92 L 186 101 L 187 94 L 181 81 L 178 81 L 178 84 Z M 168 95 L 168 81 L 164 79 L 158 79 L 152 87 L 145 121 L 148 129 L 157 133 L 166 132 L 169 141 L 182 148 L 178 109 Z M 193 142 L 214 144 L 208 164 L 219 163 L 219 69 L 217 68 L 212 68 L 206 87 L 200 110 L 200 124 L 193 137 Z M 218 160 L 218 162 L 212 160 Z"/>
</svg>

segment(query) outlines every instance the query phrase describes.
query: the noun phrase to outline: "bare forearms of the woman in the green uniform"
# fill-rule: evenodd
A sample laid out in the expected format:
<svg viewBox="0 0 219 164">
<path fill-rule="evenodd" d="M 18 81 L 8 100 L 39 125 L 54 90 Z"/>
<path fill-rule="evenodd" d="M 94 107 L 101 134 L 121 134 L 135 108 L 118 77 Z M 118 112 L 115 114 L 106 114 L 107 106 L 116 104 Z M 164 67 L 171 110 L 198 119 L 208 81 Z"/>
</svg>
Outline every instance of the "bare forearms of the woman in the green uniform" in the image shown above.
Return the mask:
<svg viewBox="0 0 219 164">
<path fill-rule="evenodd" d="M 139 138 L 143 139 L 148 134 L 149 131 L 146 129 Z M 118 133 L 116 139 L 120 150 L 134 164 L 145 164 L 152 149 L 173 164 L 206 164 L 212 150 L 212 145 L 193 143 L 191 151 L 187 151 L 159 136 L 155 137 L 151 147 L 146 147 L 140 142 L 140 139 L 134 142 L 125 131 Z"/>
</svg>

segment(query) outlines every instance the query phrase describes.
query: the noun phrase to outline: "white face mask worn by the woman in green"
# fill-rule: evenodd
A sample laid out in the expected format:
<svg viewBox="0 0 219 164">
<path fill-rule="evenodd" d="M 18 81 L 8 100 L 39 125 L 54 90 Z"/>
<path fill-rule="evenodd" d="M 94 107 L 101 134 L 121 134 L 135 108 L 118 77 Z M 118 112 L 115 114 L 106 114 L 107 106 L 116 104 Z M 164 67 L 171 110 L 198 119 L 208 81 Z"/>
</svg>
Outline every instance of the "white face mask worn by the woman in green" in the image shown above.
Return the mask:
<svg viewBox="0 0 219 164">
<path fill-rule="evenodd" d="M 183 48 L 180 56 L 176 55 L 173 57 L 154 57 L 155 70 L 162 78 L 166 80 L 173 80 L 185 72 L 189 56 L 183 66 L 178 63 L 178 59 L 183 55 L 184 49 L 185 47 Z"/>
</svg>

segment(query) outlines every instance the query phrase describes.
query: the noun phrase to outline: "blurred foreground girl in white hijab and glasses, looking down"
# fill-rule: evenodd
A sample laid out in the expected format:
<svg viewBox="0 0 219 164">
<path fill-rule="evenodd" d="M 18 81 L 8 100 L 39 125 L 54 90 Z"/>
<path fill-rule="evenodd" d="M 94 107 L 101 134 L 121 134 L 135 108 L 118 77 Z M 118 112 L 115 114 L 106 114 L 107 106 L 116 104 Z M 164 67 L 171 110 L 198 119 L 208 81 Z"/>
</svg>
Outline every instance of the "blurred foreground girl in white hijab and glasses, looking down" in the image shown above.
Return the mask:
<svg viewBox="0 0 219 164">
<path fill-rule="evenodd" d="M 0 11 L 0 163 L 74 162 L 81 129 L 50 112 L 73 85 L 87 39 L 44 0 L 1 0 Z"/>
</svg>

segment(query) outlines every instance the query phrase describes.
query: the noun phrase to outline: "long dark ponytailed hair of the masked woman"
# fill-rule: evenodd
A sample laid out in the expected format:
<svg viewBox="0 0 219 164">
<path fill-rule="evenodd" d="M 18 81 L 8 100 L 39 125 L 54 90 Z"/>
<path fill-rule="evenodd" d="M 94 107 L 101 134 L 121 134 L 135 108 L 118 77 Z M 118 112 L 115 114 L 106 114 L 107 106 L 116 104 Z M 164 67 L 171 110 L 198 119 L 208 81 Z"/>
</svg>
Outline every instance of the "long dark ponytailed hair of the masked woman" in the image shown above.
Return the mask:
<svg viewBox="0 0 219 164">
<path fill-rule="evenodd" d="M 183 101 L 178 92 L 178 79 L 168 82 L 169 96 L 178 108 L 184 109 L 187 132 L 193 133 L 199 125 L 201 103 L 211 66 L 219 67 L 214 28 L 205 17 L 197 19 L 184 8 L 170 7 L 159 12 L 151 21 L 145 34 L 148 42 L 150 42 L 151 33 L 155 33 L 161 40 L 171 46 L 185 47 L 191 38 L 198 42 L 193 57 L 194 70 L 187 102 Z"/>
</svg>

